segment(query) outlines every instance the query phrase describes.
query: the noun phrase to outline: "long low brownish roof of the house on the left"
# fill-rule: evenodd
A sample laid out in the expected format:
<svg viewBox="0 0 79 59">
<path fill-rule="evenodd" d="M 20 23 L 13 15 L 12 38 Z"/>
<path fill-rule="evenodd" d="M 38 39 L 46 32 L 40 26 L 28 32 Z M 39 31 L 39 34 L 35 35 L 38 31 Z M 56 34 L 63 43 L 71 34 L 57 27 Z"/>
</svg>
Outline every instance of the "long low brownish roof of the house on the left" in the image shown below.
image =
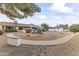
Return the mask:
<svg viewBox="0 0 79 59">
<path fill-rule="evenodd" d="M 33 24 L 21 24 L 21 23 L 12 23 L 12 22 L 0 22 L 1 26 L 22 26 L 22 27 L 38 27 Z"/>
</svg>

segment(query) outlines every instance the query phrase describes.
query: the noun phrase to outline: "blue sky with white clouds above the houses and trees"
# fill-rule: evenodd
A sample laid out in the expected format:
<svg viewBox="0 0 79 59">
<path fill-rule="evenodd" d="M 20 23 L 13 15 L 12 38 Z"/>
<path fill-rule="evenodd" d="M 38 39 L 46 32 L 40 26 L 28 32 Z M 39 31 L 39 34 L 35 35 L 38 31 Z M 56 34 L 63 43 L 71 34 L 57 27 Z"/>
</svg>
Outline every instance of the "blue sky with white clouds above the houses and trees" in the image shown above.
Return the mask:
<svg viewBox="0 0 79 59">
<path fill-rule="evenodd" d="M 79 3 L 37 3 L 37 5 L 41 8 L 40 13 L 27 19 L 17 19 L 17 21 L 36 25 L 47 23 L 50 26 L 79 23 Z M 2 14 L 0 14 L 0 21 L 12 22 Z"/>
</svg>

